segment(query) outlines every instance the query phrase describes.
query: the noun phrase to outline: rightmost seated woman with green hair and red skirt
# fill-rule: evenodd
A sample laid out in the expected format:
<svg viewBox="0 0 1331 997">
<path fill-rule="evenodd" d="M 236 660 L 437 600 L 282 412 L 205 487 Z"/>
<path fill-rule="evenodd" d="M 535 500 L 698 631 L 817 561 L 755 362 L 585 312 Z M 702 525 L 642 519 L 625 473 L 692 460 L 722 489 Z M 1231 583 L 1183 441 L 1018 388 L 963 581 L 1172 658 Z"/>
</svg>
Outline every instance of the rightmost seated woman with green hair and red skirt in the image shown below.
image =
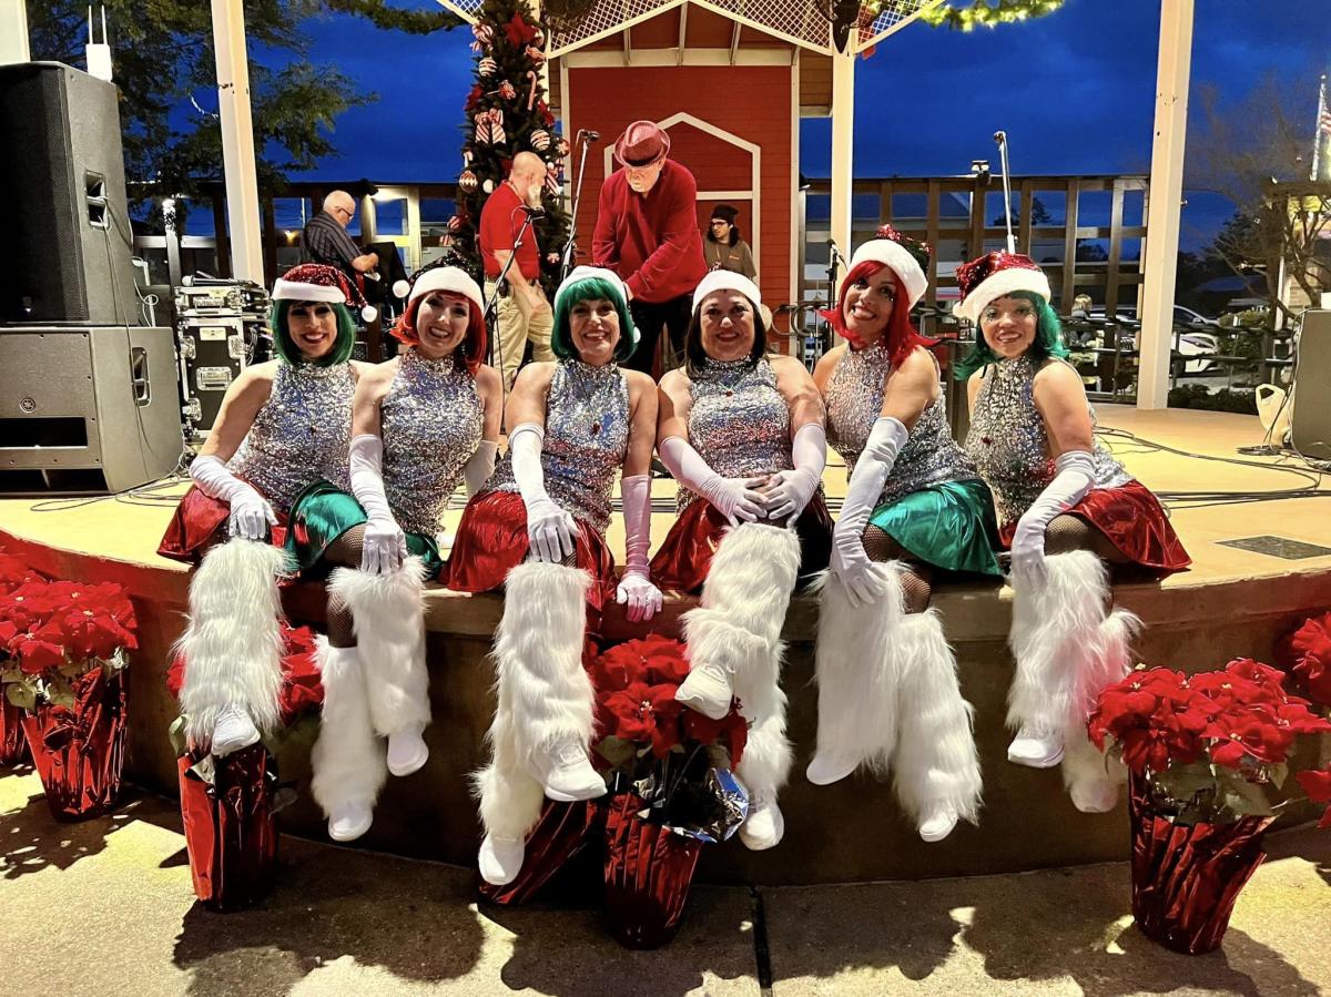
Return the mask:
<svg viewBox="0 0 1331 997">
<path fill-rule="evenodd" d="M 957 313 L 976 323 L 968 378 L 966 453 L 993 490 L 1012 547 L 1017 660 L 1008 759 L 1050 768 L 1078 809 L 1114 807 L 1117 780 L 1086 739 L 1095 695 L 1129 668 L 1139 620 L 1111 604 L 1106 562 L 1157 574 L 1190 559 L 1147 489 L 1094 438 L 1094 413 L 1063 357 L 1049 281 L 1029 257 L 994 252 L 957 269 Z"/>
</svg>

